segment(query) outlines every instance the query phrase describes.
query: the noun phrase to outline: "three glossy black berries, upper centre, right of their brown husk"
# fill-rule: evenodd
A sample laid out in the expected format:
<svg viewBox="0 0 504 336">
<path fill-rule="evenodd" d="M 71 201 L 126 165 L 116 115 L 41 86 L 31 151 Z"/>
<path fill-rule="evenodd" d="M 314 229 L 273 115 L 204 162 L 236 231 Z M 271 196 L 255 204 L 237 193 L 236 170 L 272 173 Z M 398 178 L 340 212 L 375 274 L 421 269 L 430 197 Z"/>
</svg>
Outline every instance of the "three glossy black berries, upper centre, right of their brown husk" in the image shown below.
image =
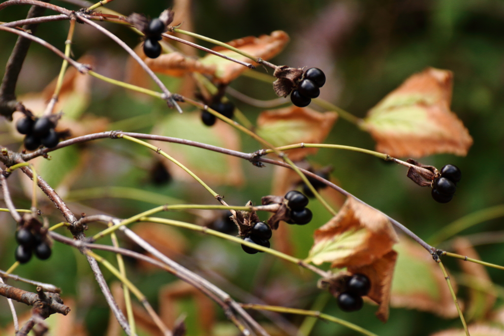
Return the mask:
<svg viewBox="0 0 504 336">
<path fill-rule="evenodd" d="M 326 84 L 326 75 L 318 68 L 310 68 L 303 74 L 297 89 L 290 94 L 290 100 L 298 107 L 308 106 L 311 98 L 320 95 L 320 88 Z"/>
</svg>

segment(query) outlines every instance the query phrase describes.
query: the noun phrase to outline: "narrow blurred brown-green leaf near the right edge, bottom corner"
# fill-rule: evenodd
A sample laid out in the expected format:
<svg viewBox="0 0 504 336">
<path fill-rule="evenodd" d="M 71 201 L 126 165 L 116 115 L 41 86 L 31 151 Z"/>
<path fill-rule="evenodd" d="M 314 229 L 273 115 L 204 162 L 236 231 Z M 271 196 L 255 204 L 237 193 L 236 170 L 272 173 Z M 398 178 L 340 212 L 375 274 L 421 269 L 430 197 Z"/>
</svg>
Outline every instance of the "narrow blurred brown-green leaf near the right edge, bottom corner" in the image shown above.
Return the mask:
<svg viewBox="0 0 504 336">
<path fill-rule="evenodd" d="M 453 248 L 458 254 L 480 259 L 478 253 L 466 238 L 458 237 L 455 239 Z M 483 265 L 464 260 L 459 260 L 459 263 L 464 273 L 470 276 L 469 281 L 475 285 L 469 287 L 469 300 L 464 315 L 466 319 L 484 319 L 488 317 L 488 313 L 496 300 L 495 293 L 491 291 L 493 289 L 492 280 Z M 482 290 L 478 290 L 478 288 Z"/>
</svg>

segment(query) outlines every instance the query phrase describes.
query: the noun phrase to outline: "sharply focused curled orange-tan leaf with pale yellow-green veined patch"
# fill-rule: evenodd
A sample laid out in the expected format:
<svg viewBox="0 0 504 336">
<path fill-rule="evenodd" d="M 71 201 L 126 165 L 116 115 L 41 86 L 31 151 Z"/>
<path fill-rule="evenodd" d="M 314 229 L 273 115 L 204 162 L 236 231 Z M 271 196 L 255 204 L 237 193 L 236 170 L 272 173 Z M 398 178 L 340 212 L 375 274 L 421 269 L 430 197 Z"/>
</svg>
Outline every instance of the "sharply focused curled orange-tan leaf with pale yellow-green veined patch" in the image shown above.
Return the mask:
<svg viewBox="0 0 504 336">
<path fill-rule="evenodd" d="M 385 215 L 348 197 L 338 214 L 315 231 L 309 259 L 338 268 L 369 265 L 398 241 Z"/>
</svg>

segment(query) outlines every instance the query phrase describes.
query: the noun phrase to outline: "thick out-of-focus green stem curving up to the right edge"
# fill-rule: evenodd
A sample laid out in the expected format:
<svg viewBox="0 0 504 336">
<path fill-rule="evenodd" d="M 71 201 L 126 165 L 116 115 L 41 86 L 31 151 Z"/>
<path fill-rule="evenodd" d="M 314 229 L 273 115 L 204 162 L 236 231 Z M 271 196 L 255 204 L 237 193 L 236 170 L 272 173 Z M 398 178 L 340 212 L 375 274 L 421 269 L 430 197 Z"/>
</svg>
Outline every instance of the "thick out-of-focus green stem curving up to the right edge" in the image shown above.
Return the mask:
<svg viewBox="0 0 504 336">
<path fill-rule="evenodd" d="M 471 226 L 502 216 L 504 216 L 504 205 L 483 209 L 475 213 L 466 215 L 445 226 L 443 229 L 439 230 L 432 237 L 430 237 L 427 241 L 432 246 L 436 246 L 440 242 L 455 236 L 457 233 L 470 228 Z"/>
</svg>

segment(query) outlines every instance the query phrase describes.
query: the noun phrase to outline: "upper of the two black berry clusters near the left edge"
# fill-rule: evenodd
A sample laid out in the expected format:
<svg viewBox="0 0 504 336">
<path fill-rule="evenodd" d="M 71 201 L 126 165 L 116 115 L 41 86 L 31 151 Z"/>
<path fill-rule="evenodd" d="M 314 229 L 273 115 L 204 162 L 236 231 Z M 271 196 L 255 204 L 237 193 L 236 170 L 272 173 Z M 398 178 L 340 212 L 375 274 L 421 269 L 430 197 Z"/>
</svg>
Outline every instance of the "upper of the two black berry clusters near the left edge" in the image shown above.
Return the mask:
<svg viewBox="0 0 504 336">
<path fill-rule="evenodd" d="M 56 124 L 49 117 L 31 118 L 25 116 L 16 124 L 18 132 L 26 135 L 25 148 L 34 151 L 44 145 L 47 148 L 56 147 L 59 143 L 59 135 L 54 130 Z"/>
</svg>

